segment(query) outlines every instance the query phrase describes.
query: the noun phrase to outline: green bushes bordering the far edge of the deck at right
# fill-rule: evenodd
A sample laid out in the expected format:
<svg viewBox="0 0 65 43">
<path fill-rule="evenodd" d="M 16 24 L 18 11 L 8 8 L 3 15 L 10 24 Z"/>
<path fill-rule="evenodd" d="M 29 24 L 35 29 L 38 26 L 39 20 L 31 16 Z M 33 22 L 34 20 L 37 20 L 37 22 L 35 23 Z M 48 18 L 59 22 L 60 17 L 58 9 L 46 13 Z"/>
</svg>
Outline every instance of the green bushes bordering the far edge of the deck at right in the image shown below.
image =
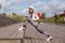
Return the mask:
<svg viewBox="0 0 65 43">
<path fill-rule="evenodd" d="M 47 18 L 48 23 L 58 23 L 58 24 L 63 24 L 64 23 L 64 17 L 61 16 L 61 14 L 56 15 L 55 17 L 49 17 Z"/>
</svg>

